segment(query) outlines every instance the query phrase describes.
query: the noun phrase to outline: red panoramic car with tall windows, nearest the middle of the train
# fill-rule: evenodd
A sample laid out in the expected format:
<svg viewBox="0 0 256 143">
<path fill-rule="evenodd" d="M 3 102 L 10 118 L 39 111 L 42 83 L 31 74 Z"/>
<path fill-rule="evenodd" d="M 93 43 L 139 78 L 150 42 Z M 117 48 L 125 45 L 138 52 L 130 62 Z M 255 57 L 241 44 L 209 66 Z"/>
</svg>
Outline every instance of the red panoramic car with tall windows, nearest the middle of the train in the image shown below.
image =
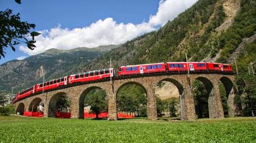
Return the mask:
<svg viewBox="0 0 256 143">
<path fill-rule="evenodd" d="M 110 76 L 114 76 L 114 69 L 102 69 L 102 70 L 94 70 L 86 73 L 81 74 L 73 74 L 70 75 L 70 84 L 73 83 L 81 83 L 86 81 L 110 78 Z"/>
</svg>

